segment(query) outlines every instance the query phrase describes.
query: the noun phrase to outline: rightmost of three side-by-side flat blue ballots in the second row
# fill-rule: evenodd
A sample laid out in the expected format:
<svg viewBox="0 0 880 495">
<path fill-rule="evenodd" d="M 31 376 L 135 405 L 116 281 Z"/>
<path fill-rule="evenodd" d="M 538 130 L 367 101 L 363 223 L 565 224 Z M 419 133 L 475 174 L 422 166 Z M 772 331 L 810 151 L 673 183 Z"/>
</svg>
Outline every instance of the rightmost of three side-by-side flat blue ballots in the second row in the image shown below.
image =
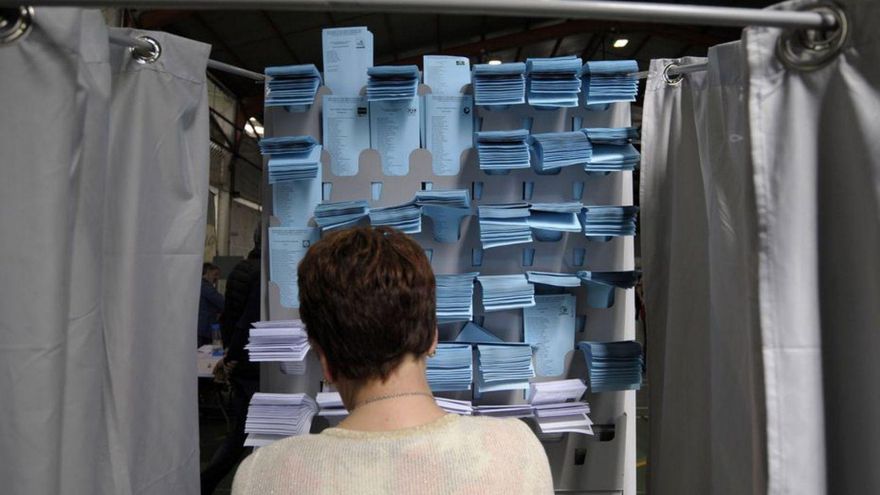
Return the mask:
<svg viewBox="0 0 880 495">
<path fill-rule="evenodd" d="M 425 96 L 425 147 L 434 175 L 458 175 L 461 154 L 473 144 L 472 96 Z"/>
</svg>

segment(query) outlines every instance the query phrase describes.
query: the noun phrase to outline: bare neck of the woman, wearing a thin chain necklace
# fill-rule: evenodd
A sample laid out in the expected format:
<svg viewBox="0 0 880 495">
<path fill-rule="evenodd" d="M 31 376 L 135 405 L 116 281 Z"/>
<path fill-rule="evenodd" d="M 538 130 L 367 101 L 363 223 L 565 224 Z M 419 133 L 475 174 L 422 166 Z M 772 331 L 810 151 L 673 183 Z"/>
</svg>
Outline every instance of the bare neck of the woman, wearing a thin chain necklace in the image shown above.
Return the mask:
<svg viewBox="0 0 880 495">
<path fill-rule="evenodd" d="M 340 428 L 390 431 L 430 423 L 446 413 L 437 406 L 425 378 L 425 359 L 407 356 L 388 379 L 354 385 L 339 383 L 351 414 Z"/>
</svg>

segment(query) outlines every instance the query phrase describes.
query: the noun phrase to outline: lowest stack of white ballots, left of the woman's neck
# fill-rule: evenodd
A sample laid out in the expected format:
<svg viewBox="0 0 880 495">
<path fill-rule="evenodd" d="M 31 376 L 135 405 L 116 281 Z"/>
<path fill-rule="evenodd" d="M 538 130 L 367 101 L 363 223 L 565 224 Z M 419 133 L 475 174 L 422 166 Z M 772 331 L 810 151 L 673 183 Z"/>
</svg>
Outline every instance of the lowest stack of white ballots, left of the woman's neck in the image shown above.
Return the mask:
<svg viewBox="0 0 880 495">
<path fill-rule="evenodd" d="M 306 394 L 257 392 L 248 406 L 244 445 L 264 447 L 285 437 L 305 435 L 317 412 L 318 404 Z"/>
</svg>

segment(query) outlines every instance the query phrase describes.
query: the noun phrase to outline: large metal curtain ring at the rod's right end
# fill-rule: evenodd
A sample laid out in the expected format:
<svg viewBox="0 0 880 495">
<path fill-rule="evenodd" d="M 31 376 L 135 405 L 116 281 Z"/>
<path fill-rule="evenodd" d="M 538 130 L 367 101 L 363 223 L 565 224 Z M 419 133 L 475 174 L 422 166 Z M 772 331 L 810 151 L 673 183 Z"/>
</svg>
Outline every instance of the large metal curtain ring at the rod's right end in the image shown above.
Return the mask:
<svg viewBox="0 0 880 495">
<path fill-rule="evenodd" d="M 834 3 L 806 5 L 799 10 L 834 18 L 834 29 L 787 30 L 776 42 L 776 56 L 789 69 L 813 71 L 833 60 L 849 41 L 849 21 L 843 8 Z"/>
</svg>

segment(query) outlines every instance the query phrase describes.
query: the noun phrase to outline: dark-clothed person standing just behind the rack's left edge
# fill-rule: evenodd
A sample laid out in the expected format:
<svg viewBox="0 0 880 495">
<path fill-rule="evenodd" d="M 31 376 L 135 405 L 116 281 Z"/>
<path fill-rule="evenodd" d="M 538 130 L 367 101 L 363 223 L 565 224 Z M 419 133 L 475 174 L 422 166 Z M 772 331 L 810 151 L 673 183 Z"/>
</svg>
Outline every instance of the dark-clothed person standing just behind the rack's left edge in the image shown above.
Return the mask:
<svg viewBox="0 0 880 495">
<path fill-rule="evenodd" d="M 254 248 L 247 259 L 240 261 L 226 279 L 226 310 L 221 319 L 226 354 L 214 367 L 217 381 L 228 382 L 232 388 L 229 415 L 232 428 L 211 462 L 201 472 L 202 495 L 214 493 L 217 485 L 229 474 L 245 452 L 244 432 L 251 397 L 260 388 L 260 365 L 248 359 L 244 346 L 248 343 L 251 324 L 260 320 L 260 227 L 254 232 Z"/>
</svg>

